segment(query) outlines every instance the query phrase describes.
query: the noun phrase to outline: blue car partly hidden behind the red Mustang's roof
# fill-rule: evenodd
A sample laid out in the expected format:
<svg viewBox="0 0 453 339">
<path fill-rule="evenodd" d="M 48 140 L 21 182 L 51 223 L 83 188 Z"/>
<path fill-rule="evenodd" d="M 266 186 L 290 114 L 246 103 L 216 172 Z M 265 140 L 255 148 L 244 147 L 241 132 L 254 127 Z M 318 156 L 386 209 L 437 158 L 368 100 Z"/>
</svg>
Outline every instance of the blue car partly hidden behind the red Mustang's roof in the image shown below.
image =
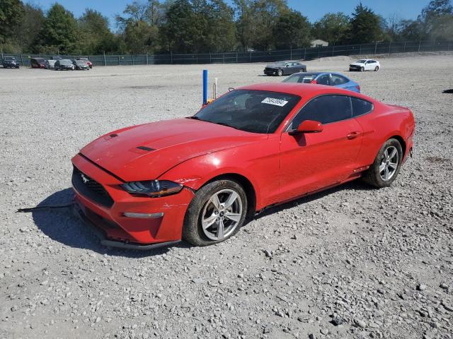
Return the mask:
<svg viewBox="0 0 453 339">
<path fill-rule="evenodd" d="M 360 85 L 352 81 L 347 76 L 333 72 L 309 72 L 309 73 L 294 73 L 292 76 L 285 78 L 283 83 L 317 83 L 319 85 L 335 86 L 352 90 L 360 93 Z"/>
</svg>

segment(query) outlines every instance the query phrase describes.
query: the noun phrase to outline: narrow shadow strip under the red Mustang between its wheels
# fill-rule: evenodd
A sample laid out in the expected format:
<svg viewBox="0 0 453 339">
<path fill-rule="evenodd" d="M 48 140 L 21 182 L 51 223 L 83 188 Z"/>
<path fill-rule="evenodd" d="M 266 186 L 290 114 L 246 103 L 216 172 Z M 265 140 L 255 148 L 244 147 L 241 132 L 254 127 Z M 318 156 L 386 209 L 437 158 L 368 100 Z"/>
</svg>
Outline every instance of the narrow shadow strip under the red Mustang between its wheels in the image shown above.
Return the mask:
<svg viewBox="0 0 453 339">
<path fill-rule="evenodd" d="M 319 198 L 322 198 L 323 196 L 328 196 L 329 194 L 333 194 L 338 191 L 345 191 L 345 190 L 351 190 L 351 191 L 374 191 L 376 188 L 373 186 L 369 186 L 365 184 L 365 182 L 362 182 L 360 179 L 353 180 L 352 182 L 347 182 L 346 184 L 341 184 L 335 187 L 332 187 L 331 189 L 326 189 L 325 191 L 320 191 L 315 194 L 310 194 L 309 196 L 304 196 L 302 198 L 288 201 L 287 203 L 282 203 L 282 205 L 277 205 L 271 208 L 268 208 L 267 210 L 264 210 L 263 213 L 260 213 L 255 216 L 253 219 L 260 219 L 265 217 L 266 215 L 271 215 L 273 213 L 280 212 L 280 210 L 286 210 L 287 208 L 293 208 L 294 206 L 299 206 L 304 203 L 309 203 L 310 201 L 317 200 Z"/>
</svg>

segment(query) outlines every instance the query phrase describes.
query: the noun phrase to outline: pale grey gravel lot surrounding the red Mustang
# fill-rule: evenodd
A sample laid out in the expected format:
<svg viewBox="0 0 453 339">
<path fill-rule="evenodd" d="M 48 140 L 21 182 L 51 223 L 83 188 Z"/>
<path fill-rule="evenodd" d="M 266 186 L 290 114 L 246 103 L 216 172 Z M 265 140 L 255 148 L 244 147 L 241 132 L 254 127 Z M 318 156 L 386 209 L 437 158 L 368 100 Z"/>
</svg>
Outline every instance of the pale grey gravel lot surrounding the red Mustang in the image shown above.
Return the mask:
<svg viewBox="0 0 453 339">
<path fill-rule="evenodd" d="M 453 54 L 309 61 L 410 107 L 393 186 L 352 182 L 259 215 L 222 244 L 101 246 L 67 210 L 71 157 L 107 131 L 185 117 L 204 66 L 0 69 L 0 338 L 453 338 Z M 219 92 L 280 81 L 207 65 Z"/>
</svg>

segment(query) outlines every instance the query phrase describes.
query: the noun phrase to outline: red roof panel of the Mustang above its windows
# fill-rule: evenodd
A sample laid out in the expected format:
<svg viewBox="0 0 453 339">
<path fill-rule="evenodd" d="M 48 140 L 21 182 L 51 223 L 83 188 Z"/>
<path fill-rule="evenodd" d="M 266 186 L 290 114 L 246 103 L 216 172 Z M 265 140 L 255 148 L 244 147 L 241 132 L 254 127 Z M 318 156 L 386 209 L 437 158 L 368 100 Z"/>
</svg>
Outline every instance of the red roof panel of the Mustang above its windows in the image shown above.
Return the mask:
<svg viewBox="0 0 453 339">
<path fill-rule="evenodd" d="M 237 90 L 268 90 L 270 92 L 299 95 L 299 97 L 314 97 L 323 94 L 343 94 L 352 97 L 362 97 L 365 100 L 376 102 L 372 97 L 344 90 L 335 86 L 313 85 L 311 83 L 257 83 L 256 85 L 243 86 Z"/>
</svg>

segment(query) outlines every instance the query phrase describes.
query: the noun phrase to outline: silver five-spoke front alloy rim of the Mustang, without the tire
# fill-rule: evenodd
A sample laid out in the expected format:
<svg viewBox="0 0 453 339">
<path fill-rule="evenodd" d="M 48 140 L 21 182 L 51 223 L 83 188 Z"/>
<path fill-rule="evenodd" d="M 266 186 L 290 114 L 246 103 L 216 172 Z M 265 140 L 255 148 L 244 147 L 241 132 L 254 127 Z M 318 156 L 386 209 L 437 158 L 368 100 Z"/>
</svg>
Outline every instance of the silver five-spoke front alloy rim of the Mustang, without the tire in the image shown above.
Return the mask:
<svg viewBox="0 0 453 339">
<path fill-rule="evenodd" d="M 232 189 L 214 193 L 202 210 L 201 225 L 206 237 L 220 241 L 236 230 L 242 216 L 242 200 Z"/>
</svg>

